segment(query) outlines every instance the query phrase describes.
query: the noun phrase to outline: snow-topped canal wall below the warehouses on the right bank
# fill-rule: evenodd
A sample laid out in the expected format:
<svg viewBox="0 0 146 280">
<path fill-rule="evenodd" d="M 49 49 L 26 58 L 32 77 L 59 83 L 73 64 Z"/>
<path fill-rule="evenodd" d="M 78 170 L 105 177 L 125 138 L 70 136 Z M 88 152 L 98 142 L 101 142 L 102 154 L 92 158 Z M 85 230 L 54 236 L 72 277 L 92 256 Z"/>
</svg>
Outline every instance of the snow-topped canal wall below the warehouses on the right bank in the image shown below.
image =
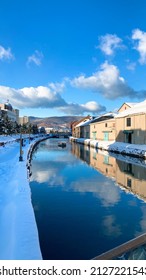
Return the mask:
<svg viewBox="0 0 146 280">
<path fill-rule="evenodd" d="M 146 145 L 136 145 L 115 141 L 98 141 L 75 137 L 70 137 L 70 141 L 77 142 L 100 150 L 146 159 Z"/>
</svg>

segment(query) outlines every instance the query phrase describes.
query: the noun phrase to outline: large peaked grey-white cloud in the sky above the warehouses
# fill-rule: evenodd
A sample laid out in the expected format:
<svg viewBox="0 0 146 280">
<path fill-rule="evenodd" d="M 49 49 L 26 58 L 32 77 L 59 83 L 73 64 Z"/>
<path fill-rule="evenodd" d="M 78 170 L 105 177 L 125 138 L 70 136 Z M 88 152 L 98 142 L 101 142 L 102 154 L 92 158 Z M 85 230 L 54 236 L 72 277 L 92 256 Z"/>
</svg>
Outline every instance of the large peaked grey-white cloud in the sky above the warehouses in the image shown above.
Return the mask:
<svg viewBox="0 0 146 280">
<path fill-rule="evenodd" d="M 133 96 L 135 91 L 130 88 L 120 76 L 118 68 L 105 62 L 100 70 L 89 77 L 81 75 L 70 81 L 77 88 L 89 89 L 101 93 L 105 98 L 115 99 L 123 96 Z"/>
</svg>

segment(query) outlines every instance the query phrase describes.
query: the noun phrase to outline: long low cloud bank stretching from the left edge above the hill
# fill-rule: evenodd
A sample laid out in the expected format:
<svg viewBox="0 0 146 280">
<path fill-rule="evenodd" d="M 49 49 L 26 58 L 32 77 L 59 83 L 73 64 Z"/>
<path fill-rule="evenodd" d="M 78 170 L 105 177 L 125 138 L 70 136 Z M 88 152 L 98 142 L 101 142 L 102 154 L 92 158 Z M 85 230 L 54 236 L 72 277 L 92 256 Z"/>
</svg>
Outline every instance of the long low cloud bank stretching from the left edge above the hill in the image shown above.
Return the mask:
<svg viewBox="0 0 146 280">
<path fill-rule="evenodd" d="M 57 83 L 51 84 L 51 87 L 25 87 L 14 89 L 0 86 L 1 99 L 9 99 L 16 108 L 57 108 L 66 114 L 97 113 L 105 111 L 104 106 L 95 101 L 85 104 L 67 103 L 60 95 L 65 85 Z M 57 91 L 58 90 L 58 91 Z"/>
</svg>

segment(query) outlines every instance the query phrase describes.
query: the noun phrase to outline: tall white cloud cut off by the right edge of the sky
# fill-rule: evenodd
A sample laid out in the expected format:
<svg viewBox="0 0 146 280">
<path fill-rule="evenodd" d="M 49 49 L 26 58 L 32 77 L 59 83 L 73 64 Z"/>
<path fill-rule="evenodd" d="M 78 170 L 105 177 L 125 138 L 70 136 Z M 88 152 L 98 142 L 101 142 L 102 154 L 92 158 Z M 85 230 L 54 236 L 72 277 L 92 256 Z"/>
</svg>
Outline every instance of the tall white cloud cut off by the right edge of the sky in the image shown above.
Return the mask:
<svg viewBox="0 0 146 280">
<path fill-rule="evenodd" d="M 139 52 L 141 64 L 146 64 L 146 32 L 135 29 L 132 32 L 132 39 L 136 41 L 135 49 Z"/>
</svg>

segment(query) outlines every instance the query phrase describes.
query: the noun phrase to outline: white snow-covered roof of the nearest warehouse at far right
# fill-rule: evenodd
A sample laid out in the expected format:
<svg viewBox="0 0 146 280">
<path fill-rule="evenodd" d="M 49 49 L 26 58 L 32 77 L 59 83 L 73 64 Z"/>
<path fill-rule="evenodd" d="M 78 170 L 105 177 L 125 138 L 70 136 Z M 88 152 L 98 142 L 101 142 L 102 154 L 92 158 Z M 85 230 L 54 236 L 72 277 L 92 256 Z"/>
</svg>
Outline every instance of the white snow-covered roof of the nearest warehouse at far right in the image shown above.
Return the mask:
<svg viewBox="0 0 146 280">
<path fill-rule="evenodd" d="M 140 114 L 140 113 L 146 113 L 146 100 L 137 103 L 132 108 L 129 108 L 121 113 L 118 113 L 116 118 L 122 118 L 129 115 Z"/>
</svg>

